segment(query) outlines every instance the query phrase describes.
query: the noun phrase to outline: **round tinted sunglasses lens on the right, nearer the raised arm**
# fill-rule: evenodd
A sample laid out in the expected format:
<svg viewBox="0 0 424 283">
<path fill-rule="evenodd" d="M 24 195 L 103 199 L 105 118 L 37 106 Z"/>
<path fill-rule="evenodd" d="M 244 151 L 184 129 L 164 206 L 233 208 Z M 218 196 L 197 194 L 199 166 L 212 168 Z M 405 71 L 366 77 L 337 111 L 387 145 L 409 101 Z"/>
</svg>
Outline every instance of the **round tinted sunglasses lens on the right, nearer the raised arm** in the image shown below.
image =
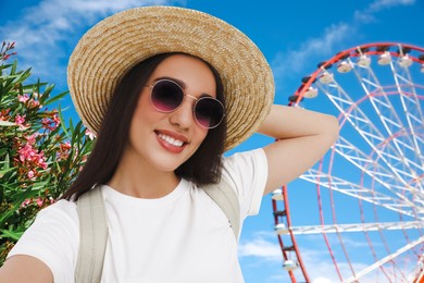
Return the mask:
<svg viewBox="0 0 424 283">
<path fill-rule="evenodd" d="M 224 118 L 224 106 L 214 98 L 200 98 L 196 103 L 195 116 L 201 126 L 216 127 Z"/>
</svg>

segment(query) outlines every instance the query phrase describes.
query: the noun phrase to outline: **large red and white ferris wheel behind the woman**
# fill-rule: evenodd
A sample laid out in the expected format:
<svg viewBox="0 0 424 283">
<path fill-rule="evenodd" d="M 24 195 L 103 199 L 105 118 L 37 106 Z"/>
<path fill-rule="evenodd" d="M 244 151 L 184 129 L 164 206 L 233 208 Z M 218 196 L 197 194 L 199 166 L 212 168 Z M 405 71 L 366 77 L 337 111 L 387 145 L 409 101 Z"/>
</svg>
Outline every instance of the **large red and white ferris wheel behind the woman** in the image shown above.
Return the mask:
<svg viewBox="0 0 424 283">
<path fill-rule="evenodd" d="M 424 282 L 424 48 L 339 52 L 302 78 L 289 106 L 328 109 L 340 135 L 272 194 L 288 278 Z"/>
</svg>

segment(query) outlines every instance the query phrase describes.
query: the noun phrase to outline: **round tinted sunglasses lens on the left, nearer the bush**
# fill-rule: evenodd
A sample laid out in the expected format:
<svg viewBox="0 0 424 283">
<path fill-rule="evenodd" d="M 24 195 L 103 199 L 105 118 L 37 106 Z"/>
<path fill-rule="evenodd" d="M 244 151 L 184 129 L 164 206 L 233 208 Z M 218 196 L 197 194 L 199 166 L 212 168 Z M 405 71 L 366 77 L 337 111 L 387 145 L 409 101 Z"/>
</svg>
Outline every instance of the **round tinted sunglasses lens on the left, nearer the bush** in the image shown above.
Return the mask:
<svg viewBox="0 0 424 283">
<path fill-rule="evenodd" d="M 183 89 L 172 81 L 159 81 L 151 91 L 153 107 L 161 112 L 172 112 L 183 102 Z"/>
</svg>

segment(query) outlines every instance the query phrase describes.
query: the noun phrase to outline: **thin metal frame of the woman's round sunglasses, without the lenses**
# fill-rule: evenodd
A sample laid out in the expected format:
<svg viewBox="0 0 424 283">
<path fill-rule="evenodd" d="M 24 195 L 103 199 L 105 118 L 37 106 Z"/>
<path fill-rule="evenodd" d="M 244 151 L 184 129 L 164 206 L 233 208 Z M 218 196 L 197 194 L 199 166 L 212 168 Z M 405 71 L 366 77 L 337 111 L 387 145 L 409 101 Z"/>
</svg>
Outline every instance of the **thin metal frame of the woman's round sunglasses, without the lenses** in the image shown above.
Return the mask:
<svg viewBox="0 0 424 283">
<path fill-rule="evenodd" d="M 182 94 L 183 94 L 182 102 L 180 102 L 176 108 L 174 108 L 174 109 L 172 109 L 172 110 L 170 110 L 170 111 L 164 111 L 164 110 L 159 109 L 159 108 L 154 104 L 153 98 L 152 98 L 152 97 L 153 97 L 153 91 L 154 91 L 154 90 L 153 90 L 153 89 L 154 89 L 154 86 L 157 86 L 158 84 L 163 83 L 163 82 L 169 82 L 169 83 L 174 84 L 175 86 L 177 86 L 177 87 L 182 90 Z M 151 104 L 153 106 L 153 108 L 154 108 L 158 112 L 161 112 L 161 113 L 172 113 L 172 112 L 176 111 L 176 110 L 183 104 L 184 99 L 185 99 L 186 97 L 189 97 L 189 98 L 191 98 L 191 99 L 194 99 L 194 100 L 196 101 L 195 104 L 194 104 L 194 107 L 191 108 L 191 112 L 192 112 L 192 116 L 195 118 L 196 123 L 197 123 L 199 126 L 201 126 L 201 127 L 203 127 L 203 128 L 208 128 L 208 130 L 210 130 L 210 128 L 215 128 L 215 127 L 217 127 L 219 125 L 221 125 L 222 121 L 224 120 L 224 116 L 225 116 L 225 107 L 224 107 L 224 104 L 223 104 L 220 100 L 217 100 L 216 98 L 209 97 L 209 96 L 197 98 L 197 97 L 187 95 L 187 94 L 184 91 L 183 87 L 182 87 L 177 82 L 172 81 L 172 79 L 170 79 L 170 78 L 161 78 L 161 79 L 158 79 L 158 81 L 155 81 L 154 83 L 149 84 L 149 85 L 147 85 L 147 86 L 151 88 L 151 90 L 150 90 L 150 102 L 151 102 Z M 217 122 L 216 125 L 214 125 L 214 126 L 203 126 L 203 125 L 198 121 L 198 119 L 197 119 L 197 116 L 196 116 L 196 107 L 198 106 L 198 102 L 199 102 L 199 101 L 204 100 L 204 99 L 212 99 L 212 100 L 219 102 L 220 106 L 222 107 L 222 110 L 223 110 L 222 118 L 221 118 L 220 122 Z"/>
</svg>

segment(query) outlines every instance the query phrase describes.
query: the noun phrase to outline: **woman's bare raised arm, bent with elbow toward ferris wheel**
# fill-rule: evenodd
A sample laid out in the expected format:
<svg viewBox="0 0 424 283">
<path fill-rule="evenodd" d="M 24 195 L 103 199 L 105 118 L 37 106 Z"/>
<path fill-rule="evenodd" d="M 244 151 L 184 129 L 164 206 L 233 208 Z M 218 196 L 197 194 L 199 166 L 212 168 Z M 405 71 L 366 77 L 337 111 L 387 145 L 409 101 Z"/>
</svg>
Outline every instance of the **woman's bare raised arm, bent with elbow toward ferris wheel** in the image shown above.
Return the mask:
<svg viewBox="0 0 424 283">
<path fill-rule="evenodd" d="M 264 194 L 315 164 L 337 139 L 338 131 L 335 116 L 274 104 L 258 131 L 277 139 L 264 148 L 269 164 Z"/>
</svg>

